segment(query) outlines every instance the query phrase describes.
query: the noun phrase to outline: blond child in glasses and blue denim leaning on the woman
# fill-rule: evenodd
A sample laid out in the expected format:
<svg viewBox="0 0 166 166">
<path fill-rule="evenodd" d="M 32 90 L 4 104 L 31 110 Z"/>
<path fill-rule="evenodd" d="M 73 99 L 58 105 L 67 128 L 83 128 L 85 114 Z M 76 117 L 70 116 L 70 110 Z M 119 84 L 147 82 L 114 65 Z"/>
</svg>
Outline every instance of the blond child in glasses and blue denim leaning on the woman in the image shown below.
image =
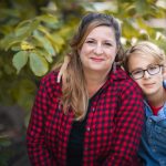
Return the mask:
<svg viewBox="0 0 166 166">
<path fill-rule="evenodd" d="M 145 95 L 145 126 L 139 156 L 145 166 L 166 166 L 166 55 L 151 42 L 139 42 L 125 56 L 124 66 Z"/>
</svg>

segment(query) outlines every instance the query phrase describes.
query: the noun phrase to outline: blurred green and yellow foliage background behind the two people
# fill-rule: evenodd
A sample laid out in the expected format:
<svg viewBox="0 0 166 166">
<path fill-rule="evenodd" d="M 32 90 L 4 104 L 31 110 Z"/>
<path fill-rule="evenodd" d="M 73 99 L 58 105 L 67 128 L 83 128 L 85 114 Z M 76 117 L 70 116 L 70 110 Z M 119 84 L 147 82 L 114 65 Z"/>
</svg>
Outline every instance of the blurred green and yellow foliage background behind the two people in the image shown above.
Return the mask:
<svg viewBox="0 0 166 166">
<path fill-rule="evenodd" d="M 118 19 L 125 49 L 149 40 L 166 51 L 166 0 L 1 0 L 0 166 L 30 166 L 24 138 L 40 79 L 89 11 Z"/>
</svg>

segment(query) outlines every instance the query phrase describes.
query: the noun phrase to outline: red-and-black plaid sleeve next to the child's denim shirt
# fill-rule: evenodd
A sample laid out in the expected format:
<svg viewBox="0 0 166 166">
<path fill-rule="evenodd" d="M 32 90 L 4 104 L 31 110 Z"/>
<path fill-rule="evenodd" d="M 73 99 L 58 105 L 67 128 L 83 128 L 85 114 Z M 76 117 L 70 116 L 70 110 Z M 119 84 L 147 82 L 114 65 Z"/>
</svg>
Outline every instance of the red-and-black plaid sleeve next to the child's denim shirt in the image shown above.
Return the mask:
<svg viewBox="0 0 166 166">
<path fill-rule="evenodd" d="M 114 123 L 112 152 L 104 165 L 134 166 L 144 123 L 143 96 L 136 84 L 123 85 Z"/>
</svg>

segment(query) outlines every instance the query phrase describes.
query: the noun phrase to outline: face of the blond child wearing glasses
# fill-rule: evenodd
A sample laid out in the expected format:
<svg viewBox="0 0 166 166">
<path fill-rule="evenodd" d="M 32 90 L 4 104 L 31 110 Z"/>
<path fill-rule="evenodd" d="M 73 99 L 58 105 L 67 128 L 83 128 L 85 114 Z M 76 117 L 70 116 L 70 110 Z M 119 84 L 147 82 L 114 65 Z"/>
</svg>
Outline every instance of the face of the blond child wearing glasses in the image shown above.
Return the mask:
<svg viewBox="0 0 166 166">
<path fill-rule="evenodd" d="M 153 73 L 156 63 L 153 56 L 142 56 L 142 55 L 133 55 L 128 61 L 129 73 L 134 72 L 138 74 L 141 70 L 149 69 Z M 148 97 L 156 95 L 163 91 L 163 73 L 162 68 L 159 68 L 158 72 L 154 75 L 151 75 L 147 71 L 144 71 L 144 76 L 135 80 L 137 84 L 143 90 L 144 94 Z"/>
</svg>

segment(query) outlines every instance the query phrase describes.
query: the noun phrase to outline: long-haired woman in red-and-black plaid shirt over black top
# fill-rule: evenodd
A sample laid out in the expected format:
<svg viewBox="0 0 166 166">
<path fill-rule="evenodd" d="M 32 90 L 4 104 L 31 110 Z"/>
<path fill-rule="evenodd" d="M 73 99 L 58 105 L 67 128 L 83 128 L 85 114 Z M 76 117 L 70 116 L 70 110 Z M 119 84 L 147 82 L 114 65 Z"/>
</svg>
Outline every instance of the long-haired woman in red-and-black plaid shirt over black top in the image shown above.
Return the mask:
<svg viewBox="0 0 166 166">
<path fill-rule="evenodd" d="M 120 66 L 121 29 L 107 14 L 86 14 L 71 42 L 63 81 L 45 75 L 27 144 L 32 165 L 136 164 L 144 110 L 142 92 Z"/>
</svg>

